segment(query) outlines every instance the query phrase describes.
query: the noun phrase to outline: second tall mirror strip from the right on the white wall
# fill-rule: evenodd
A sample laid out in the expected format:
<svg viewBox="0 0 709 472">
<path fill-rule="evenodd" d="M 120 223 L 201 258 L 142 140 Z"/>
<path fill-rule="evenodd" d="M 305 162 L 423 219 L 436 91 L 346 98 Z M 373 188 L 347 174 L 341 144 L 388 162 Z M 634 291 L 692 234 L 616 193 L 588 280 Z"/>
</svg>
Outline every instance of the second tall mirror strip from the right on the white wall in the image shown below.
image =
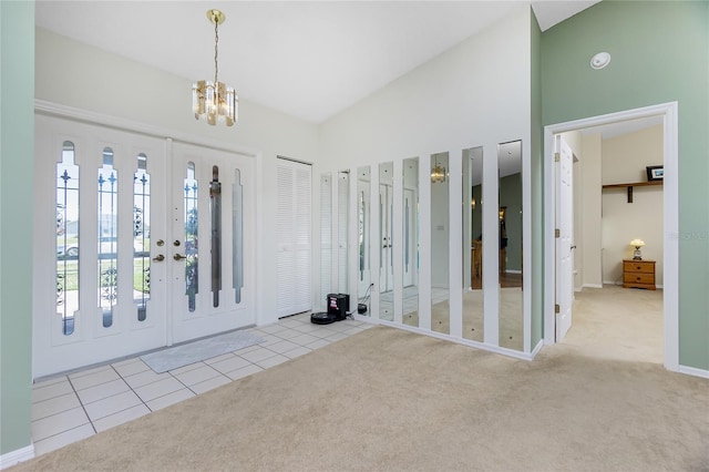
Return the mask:
<svg viewBox="0 0 709 472">
<path fill-rule="evenodd" d="M 463 150 L 463 338 L 483 342 L 483 148 Z"/>
</svg>

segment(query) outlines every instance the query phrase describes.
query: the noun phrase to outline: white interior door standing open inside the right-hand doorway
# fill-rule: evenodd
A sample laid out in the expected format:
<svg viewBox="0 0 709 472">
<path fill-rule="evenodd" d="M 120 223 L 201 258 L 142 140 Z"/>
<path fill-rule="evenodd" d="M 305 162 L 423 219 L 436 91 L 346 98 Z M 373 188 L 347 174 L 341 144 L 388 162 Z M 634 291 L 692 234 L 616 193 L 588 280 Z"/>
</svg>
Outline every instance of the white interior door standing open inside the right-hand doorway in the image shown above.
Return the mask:
<svg viewBox="0 0 709 472">
<path fill-rule="evenodd" d="M 556 136 L 556 342 L 572 326 L 574 258 L 574 154 L 568 144 Z"/>
</svg>

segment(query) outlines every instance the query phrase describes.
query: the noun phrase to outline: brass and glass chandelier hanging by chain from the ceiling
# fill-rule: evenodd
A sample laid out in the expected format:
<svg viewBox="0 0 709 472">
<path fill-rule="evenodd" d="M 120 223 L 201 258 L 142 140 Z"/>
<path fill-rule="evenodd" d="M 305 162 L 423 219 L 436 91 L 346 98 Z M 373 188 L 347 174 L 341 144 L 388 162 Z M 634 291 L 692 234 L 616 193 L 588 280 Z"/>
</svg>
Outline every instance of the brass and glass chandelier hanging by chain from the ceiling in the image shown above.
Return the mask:
<svg viewBox="0 0 709 472">
<path fill-rule="evenodd" d="M 214 23 L 214 82 L 201 80 L 192 84 L 192 110 L 196 120 L 206 120 L 215 125 L 217 122 L 234 125 L 238 119 L 238 96 L 234 88 L 217 80 L 219 44 L 219 24 L 226 16 L 219 10 L 207 10 L 207 18 Z"/>
</svg>

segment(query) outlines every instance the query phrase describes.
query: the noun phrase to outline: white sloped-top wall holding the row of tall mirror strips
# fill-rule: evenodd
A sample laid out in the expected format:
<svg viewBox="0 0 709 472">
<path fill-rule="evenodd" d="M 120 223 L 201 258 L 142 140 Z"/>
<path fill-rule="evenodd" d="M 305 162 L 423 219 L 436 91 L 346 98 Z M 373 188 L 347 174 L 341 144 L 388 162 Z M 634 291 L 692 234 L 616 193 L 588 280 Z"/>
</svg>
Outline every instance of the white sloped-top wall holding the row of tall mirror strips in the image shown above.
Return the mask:
<svg viewBox="0 0 709 472">
<path fill-rule="evenodd" d="M 462 236 L 455 239 L 455 235 L 462 235 L 463 150 L 482 146 L 483 178 L 490 183 L 483 185 L 483 239 L 496 240 L 497 144 L 522 140 L 523 162 L 526 164 L 531 160 L 531 11 L 528 7 L 520 7 L 490 29 L 393 81 L 320 126 L 320 156 L 325 170 L 354 168 L 367 164 L 374 167 L 381 162 L 419 156 L 421 170 L 428 171 L 432 154 L 450 153 L 450 201 L 453 202 L 449 208 L 451 287 L 463 285 Z M 421 191 L 421 284 L 425 285 L 431 284 L 430 273 L 425 278 L 431 260 L 430 185 L 428 191 Z M 531 193 L 523 196 L 528 204 Z M 487 287 L 496 287 L 494 268 L 497 254 L 494 246 L 491 247 L 493 249 L 483 261 L 483 266 L 490 269 L 483 276 L 489 277 L 485 281 Z M 427 305 L 424 291 L 420 300 L 422 306 Z M 455 310 L 461 309 L 456 302 L 452 297 L 452 327 Z M 497 300 L 486 298 L 485 309 L 485 339 L 496 343 L 496 332 L 487 332 L 493 325 L 487 316 L 492 314 L 496 322 Z"/>
</svg>

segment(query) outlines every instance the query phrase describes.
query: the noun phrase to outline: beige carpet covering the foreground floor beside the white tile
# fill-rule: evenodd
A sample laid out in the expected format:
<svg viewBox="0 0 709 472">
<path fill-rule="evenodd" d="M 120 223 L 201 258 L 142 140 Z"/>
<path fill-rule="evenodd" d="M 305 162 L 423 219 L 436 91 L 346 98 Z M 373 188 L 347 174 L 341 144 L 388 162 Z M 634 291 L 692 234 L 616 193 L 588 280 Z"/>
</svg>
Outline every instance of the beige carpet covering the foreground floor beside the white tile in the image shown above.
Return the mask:
<svg viewBox="0 0 709 472">
<path fill-rule="evenodd" d="M 709 470 L 708 392 L 577 343 L 527 362 L 376 327 L 11 470 Z"/>
</svg>

